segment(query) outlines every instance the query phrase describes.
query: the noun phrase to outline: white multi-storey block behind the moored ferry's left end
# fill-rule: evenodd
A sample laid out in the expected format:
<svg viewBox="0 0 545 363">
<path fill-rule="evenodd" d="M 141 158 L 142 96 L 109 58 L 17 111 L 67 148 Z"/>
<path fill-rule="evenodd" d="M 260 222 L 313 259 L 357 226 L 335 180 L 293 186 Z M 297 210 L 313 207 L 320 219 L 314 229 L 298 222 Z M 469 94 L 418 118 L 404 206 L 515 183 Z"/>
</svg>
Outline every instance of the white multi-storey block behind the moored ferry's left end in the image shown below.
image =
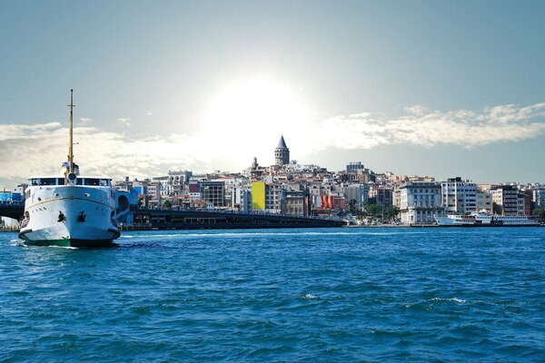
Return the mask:
<svg viewBox="0 0 545 363">
<path fill-rule="evenodd" d="M 441 182 L 441 202 L 446 214 L 470 214 L 477 211 L 477 184 L 461 177 Z"/>
</svg>

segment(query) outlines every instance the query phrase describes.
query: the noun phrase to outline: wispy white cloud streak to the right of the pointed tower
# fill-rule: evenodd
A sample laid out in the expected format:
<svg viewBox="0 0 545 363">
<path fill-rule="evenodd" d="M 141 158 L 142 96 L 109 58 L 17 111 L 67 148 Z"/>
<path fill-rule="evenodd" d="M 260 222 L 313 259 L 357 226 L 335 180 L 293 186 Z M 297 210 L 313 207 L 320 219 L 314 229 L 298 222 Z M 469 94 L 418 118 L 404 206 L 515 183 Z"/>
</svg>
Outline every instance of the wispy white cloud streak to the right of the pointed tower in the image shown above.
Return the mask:
<svg viewBox="0 0 545 363">
<path fill-rule="evenodd" d="M 314 128 L 310 151 L 327 147 L 371 149 L 379 145 L 440 144 L 475 148 L 495 142 L 517 142 L 545 133 L 545 103 L 526 107 L 501 105 L 474 112 L 405 108 L 406 115 L 387 118 L 372 113 L 332 117 Z"/>
</svg>

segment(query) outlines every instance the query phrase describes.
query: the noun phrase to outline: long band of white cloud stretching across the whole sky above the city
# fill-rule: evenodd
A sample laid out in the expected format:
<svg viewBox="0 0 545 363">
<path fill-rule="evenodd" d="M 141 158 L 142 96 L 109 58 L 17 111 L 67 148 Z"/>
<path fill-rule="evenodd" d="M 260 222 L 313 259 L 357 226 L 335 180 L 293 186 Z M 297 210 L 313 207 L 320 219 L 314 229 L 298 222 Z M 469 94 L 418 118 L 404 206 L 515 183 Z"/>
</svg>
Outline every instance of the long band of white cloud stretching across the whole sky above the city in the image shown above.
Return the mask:
<svg viewBox="0 0 545 363">
<path fill-rule="evenodd" d="M 211 128 L 206 132 L 169 136 L 129 137 L 98 127 L 74 128 L 74 154 L 85 174 L 144 177 L 168 170 L 241 171 L 253 156 L 261 164 L 272 162 L 272 151 L 286 138 L 294 159 L 312 162 L 312 152 L 329 147 L 372 149 L 381 145 L 440 144 L 477 148 L 494 142 L 517 142 L 545 134 L 545 103 L 520 107 L 501 105 L 481 111 L 433 111 L 422 106 L 388 118 L 375 113 L 337 116 L 309 123 L 304 132 L 271 130 L 259 125 L 252 137 L 239 127 Z M 119 119 L 130 124 L 130 119 Z M 35 174 L 57 174 L 66 159 L 68 130 L 61 123 L 0 124 L 0 185 L 12 187 Z M 268 159 L 263 159 L 266 156 Z"/>
</svg>

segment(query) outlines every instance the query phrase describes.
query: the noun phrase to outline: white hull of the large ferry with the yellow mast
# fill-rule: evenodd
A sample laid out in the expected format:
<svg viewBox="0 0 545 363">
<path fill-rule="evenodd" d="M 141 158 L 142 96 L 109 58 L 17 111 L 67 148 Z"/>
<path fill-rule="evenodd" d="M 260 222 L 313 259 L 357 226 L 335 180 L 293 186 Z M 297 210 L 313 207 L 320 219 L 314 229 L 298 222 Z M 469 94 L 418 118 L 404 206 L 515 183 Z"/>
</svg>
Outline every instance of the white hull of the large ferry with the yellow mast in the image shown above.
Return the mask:
<svg viewBox="0 0 545 363">
<path fill-rule="evenodd" d="M 120 233 L 109 191 L 84 186 L 35 189 L 25 206 L 29 221 L 19 238 L 29 245 L 104 247 Z"/>
</svg>

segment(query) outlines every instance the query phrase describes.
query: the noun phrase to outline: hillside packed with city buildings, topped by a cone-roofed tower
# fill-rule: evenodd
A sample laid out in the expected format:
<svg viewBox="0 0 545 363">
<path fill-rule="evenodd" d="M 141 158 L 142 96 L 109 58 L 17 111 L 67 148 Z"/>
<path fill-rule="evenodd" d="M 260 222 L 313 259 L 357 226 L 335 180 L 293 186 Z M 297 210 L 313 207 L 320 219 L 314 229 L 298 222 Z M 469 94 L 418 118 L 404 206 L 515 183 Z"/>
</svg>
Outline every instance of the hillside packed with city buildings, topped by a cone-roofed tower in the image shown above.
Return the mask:
<svg viewBox="0 0 545 363">
<path fill-rule="evenodd" d="M 545 208 L 541 184 L 477 184 L 460 177 L 436 181 L 430 176 L 373 172 L 349 162 L 341 172 L 290 160 L 283 136 L 275 163 L 254 158 L 243 172 L 169 171 L 144 180 L 116 182 L 146 208 L 240 211 L 295 216 L 360 216 L 367 221 L 432 223 L 433 216 L 487 211 L 530 215 Z"/>
</svg>

